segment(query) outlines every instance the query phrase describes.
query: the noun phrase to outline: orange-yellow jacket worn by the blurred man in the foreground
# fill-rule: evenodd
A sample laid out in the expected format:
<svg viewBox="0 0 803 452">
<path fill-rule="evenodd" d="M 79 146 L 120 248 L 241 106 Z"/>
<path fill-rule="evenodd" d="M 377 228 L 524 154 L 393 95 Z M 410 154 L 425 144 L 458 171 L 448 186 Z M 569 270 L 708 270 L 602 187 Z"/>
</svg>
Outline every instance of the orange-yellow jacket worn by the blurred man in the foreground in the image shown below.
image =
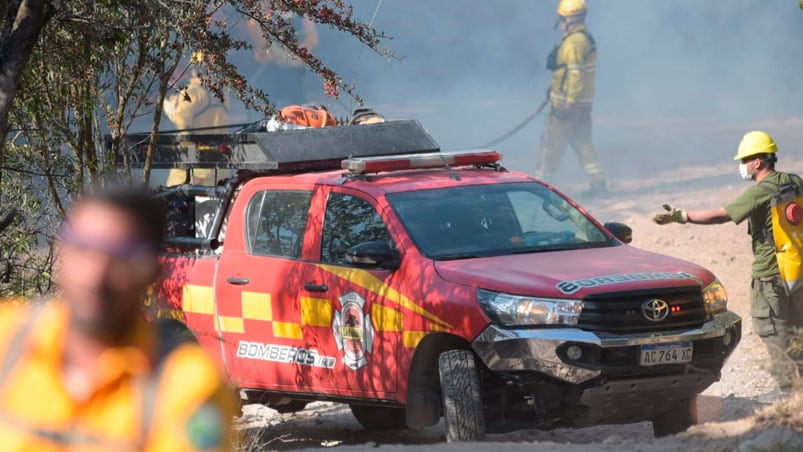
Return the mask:
<svg viewBox="0 0 803 452">
<path fill-rule="evenodd" d="M 160 364 L 143 323 L 131 344 L 98 356 L 89 378 L 62 363 L 68 312 L 0 307 L 0 449 L 4 451 L 229 450 L 233 390 L 194 344 Z"/>
</svg>

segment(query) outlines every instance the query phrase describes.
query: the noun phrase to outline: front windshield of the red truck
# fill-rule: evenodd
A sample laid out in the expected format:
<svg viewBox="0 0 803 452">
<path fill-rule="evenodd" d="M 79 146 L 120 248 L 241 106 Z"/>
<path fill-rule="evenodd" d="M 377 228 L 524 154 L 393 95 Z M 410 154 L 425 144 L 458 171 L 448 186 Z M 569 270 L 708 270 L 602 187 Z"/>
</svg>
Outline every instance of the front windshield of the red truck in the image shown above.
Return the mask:
<svg viewBox="0 0 803 452">
<path fill-rule="evenodd" d="M 534 182 L 420 190 L 386 198 L 421 253 L 432 259 L 613 244 L 563 197 Z"/>
</svg>

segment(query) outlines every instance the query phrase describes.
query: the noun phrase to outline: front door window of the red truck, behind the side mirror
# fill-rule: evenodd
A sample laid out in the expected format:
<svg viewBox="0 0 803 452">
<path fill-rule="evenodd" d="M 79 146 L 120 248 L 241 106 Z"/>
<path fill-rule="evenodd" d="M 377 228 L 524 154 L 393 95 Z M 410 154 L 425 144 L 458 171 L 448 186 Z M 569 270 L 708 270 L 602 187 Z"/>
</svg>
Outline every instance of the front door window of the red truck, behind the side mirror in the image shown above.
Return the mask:
<svg viewBox="0 0 803 452">
<path fill-rule="evenodd" d="M 346 264 L 346 251 L 363 242 L 383 241 L 393 245 L 390 232 L 367 201 L 332 193 L 326 203 L 321 238 L 321 261 Z"/>
</svg>

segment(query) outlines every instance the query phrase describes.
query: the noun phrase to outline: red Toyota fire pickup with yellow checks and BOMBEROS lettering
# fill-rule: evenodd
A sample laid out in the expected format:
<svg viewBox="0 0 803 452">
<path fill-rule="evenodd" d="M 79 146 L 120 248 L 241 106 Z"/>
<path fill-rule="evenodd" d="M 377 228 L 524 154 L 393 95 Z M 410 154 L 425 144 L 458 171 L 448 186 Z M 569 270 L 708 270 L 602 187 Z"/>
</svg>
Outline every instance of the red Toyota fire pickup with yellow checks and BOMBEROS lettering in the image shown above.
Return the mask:
<svg viewBox="0 0 803 452">
<path fill-rule="evenodd" d="M 248 403 L 346 403 L 368 429 L 443 418 L 449 441 L 661 436 L 696 422 L 740 340 L 711 271 L 628 245 L 497 152 L 440 151 L 416 121 L 160 140 L 164 167 L 239 171 L 160 191 L 185 216 L 215 208 L 205 229 L 173 225 L 147 313 L 191 331 Z"/>
</svg>

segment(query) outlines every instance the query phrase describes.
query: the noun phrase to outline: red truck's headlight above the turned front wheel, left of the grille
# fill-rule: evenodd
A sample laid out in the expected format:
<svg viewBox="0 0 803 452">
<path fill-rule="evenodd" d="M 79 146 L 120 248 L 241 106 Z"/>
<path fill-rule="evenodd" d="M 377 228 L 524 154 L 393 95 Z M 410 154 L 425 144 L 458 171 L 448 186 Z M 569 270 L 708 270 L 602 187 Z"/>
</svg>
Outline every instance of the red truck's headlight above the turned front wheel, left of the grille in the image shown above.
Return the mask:
<svg viewBox="0 0 803 452">
<path fill-rule="evenodd" d="M 485 312 L 508 325 L 577 325 L 583 302 L 557 298 L 522 297 L 490 290 L 477 291 Z"/>
</svg>

